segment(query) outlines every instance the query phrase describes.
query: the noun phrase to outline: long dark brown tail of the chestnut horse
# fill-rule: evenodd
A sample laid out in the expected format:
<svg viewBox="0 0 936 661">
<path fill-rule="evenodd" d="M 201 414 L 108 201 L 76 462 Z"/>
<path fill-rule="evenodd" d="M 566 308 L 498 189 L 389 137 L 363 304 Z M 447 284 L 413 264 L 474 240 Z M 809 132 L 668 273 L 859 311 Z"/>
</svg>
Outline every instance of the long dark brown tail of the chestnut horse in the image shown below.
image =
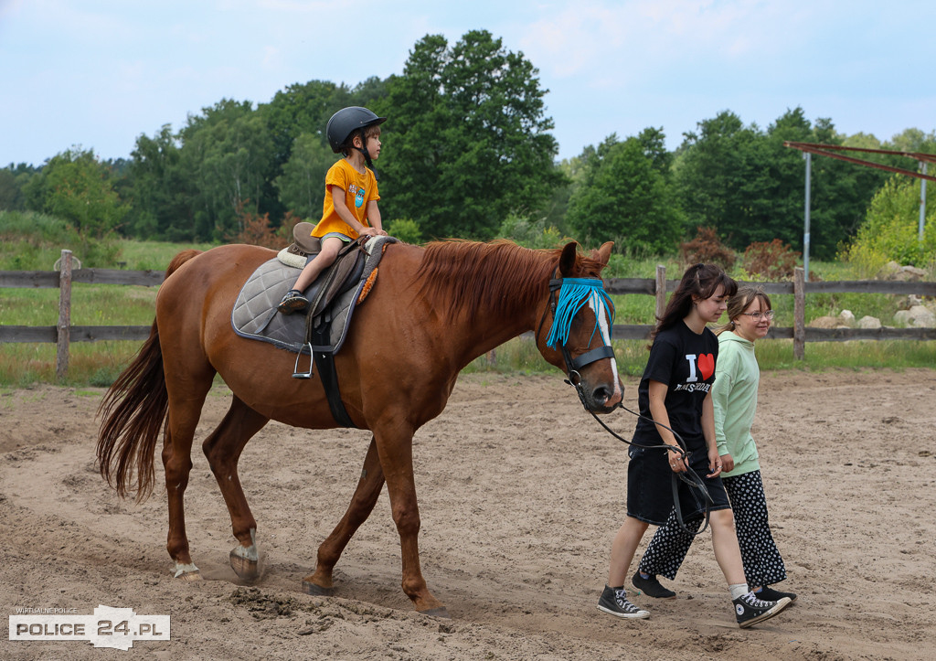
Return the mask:
<svg viewBox="0 0 936 661">
<path fill-rule="evenodd" d="M 198 250 L 183 250 L 168 265 L 168 278 Z M 136 358 L 117 377 L 98 408 L 103 416 L 97 434 L 97 463 L 101 476 L 122 498 L 137 492 L 137 502 L 153 492 L 153 460 L 159 433 L 168 419 L 168 391 L 163 373 L 163 351 L 156 320 L 150 337 Z M 129 485 L 136 468 L 137 484 Z"/>
</svg>

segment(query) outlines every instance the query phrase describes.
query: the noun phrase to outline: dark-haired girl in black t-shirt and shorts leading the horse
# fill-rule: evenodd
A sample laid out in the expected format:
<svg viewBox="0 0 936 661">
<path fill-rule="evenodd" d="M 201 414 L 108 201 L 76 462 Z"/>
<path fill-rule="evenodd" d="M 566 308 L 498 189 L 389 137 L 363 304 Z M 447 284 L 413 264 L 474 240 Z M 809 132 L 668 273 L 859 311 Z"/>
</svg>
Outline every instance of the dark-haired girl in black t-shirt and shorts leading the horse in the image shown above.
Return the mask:
<svg viewBox="0 0 936 661">
<path fill-rule="evenodd" d="M 640 379 L 637 401 L 641 419 L 634 433 L 627 467 L 627 517 L 611 544 L 610 568 L 598 609 L 622 618 L 650 617 L 627 600 L 624 579 L 648 524 L 662 525 L 672 510 L 673 475 L 692 467 L 705 475 L 715 559 L 731 591 L 741 627 L 773 617 L 789 603 L 758 599 L 748 589 L 735 536 L 735 521 L 724 492 L 721 458 L 715 444 L 714 410 L 709 390 L 715 380 L 718 340 L 706 328 L 718 321 L 738 285 L 713 265 L 690 267 L 673 292 L 653 331 L 650 359 Z M 659 423 L 659 424 L 657 424 Z M 680 435 L 687 454 L 667 428 Z M 672 446 L 678 451 L 651 446 Z M 682 516 L 691 519 L 705 507 L 694 488 L 682 480 L 678 497 Z"/>
</svg>

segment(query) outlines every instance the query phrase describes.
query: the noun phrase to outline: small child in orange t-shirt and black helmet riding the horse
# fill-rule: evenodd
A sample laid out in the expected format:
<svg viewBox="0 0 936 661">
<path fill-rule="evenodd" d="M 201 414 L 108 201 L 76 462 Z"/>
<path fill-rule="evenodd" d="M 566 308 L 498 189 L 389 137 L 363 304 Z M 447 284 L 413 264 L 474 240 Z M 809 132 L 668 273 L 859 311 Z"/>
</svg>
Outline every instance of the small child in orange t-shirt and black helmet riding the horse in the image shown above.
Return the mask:
<svg viewBox="0 0 936 661">
<path fill-rule="evenodd" d="M 373 159 L 380 155 L 380 125 L 385 121 L 386 117 L 358 106 L 338 110 L 329 119 L 325 129 L 329 146 L 344 158 L 325 175 L 322 219 L 312 230 L 312 236 L 321 239 L 322 250 L 305 265 L 276 307 L 284 315 L 309 306 L 302 292 L 334 263 L 345 243 L 358 236 L 387 236 L 381 227 L 380 195 L 373 172 Z"/>
</svg>

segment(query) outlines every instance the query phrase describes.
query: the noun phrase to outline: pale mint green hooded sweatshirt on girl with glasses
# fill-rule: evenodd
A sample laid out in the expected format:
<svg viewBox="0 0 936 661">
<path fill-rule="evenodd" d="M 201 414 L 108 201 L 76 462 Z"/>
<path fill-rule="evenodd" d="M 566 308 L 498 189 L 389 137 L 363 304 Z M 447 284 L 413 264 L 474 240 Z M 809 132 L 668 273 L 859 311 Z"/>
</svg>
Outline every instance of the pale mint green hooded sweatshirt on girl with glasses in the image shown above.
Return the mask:
<svg viewBox="0 0 936 661">
<path fill-rule="evenodd" d="M 759 382 L 760 368 L 754 358 L 754 343 L 725 330 L 718 336 L 718 362 L 711 399 L 715 406 L 718 453 L 731 454 L 735 468 L 722 477 L 760 470 L 757 446 L 751 435 Z"/>
</svg>

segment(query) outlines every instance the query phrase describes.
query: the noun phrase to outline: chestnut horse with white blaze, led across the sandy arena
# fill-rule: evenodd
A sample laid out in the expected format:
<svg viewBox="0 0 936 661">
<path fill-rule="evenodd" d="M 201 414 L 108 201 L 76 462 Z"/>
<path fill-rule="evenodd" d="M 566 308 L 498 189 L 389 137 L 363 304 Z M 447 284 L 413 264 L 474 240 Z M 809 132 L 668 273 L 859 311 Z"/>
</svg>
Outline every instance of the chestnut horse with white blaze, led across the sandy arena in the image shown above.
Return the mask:
<svg viewBox="0 0 936 661">
<path fill-rule="evenodd" d="M 371 445 L 344 518 L 319 547 L 314 574 L 303 580 L 306 592 L 330 594 L 332 568 L 386 481 L 400 534 L 402 590 L 417 610 L 446 614 L 419 567 L 413 433 L 442 412 L 463 367 L 529 330 L 543 357 L 569 375 L 586 407 L 609 413 L 621 404 L 609 346 L 613 307 L 600 279 L 610 250 L 606 243 L 585 257 L 574 242 L 555 250 L 504 241 L 388 244 L 379 277 L 335 356 L 344 407 L 358 428 L 373 433 Z M 256 521 L 238 477 L 247 441 L 271 419 L 307 429 L 339 426 L 319 379 L 290 378 L 294 353 L 231 328 L 241 286 L 274 256 L 251 245 L 177 255 L 156 297 L 149 339 L 101 403 L 97 461 L 121 496 L 136 492 L 140 501 L 153 491 L 155 446 L 165 432 L 167 549 L 177 578 L 201 578 L 185 535 L 183 494 L 193 436 L 215 374 L 233 398 L 202 449 L 240 542 L 230 562 L 241 578 L 259 574 Z M 571 306 L 563 298 L 573 299 Z"/>
</svg>

